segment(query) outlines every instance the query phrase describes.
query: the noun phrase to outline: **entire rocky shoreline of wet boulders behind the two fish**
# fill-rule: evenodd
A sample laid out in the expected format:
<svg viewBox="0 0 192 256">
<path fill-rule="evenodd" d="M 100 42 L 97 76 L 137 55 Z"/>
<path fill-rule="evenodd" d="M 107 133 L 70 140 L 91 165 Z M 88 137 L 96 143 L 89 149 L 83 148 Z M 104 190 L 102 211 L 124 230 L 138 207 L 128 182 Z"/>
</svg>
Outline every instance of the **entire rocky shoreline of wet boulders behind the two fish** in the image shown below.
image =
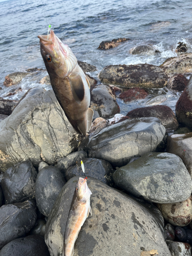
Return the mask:
<svg viewBox="0 0 192 256">
<path fill-rule="evenodd" d="M 120 39 L 112 45 L 125 38 Z M 160 67 L 107 66 L 97 80 L 87 74 L 94 121 L 84 138 L 52 90 L 32 88 L 18 102 L 0 99 L 0 256 L 63 255 L 81 159 L 93 216 L 79 232 L 74 256 L 192 255 L 192 78 L 186 78 L 191 54 Z M 79 65 L 85 73 L 96 71 Z M 35 72 L 41 70 L 7 75 L 4 86 L 19 88 Z M 49 83 L 49 77 L 41 82 Z M 118 97 L 138 101 L 152 88 L 182 92 L 176 115 L 161 105 L 164 95 L 120 114 Z"/>
</svg>

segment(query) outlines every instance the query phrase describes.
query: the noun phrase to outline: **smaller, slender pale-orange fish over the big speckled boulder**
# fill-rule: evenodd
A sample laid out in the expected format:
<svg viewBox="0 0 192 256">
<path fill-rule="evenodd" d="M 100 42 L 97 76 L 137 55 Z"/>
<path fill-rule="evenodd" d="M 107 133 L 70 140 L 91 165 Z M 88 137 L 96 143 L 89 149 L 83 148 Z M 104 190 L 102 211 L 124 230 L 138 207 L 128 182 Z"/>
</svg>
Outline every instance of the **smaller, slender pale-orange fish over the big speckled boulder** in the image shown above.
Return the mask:
<svg viewBox="0 0 192 256">
<path fill-rule="evenodd" d="M 92 215 L 90 206 L 91 190 L 88 187 L 87 179 L 79 177 L 71 203 L 65 237 L 64 237 L 64 256 L 72 256 L 74 253 L 74 244 L 78 237 L 78 233 L 89 216 Z"/>
</svg>

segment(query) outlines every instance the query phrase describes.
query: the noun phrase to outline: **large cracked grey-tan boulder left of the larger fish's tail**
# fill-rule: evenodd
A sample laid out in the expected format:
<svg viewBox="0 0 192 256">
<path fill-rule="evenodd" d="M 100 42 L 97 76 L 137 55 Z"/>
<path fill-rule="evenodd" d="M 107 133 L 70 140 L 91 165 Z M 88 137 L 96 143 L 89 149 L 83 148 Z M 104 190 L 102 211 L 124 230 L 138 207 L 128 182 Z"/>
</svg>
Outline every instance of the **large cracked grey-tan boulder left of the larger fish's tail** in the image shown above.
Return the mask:
<svg viewBox="0 0 192 256">
<path fill-rule="evenodd" d="M 29 159 L 55 164 L 77 147 L 75 131 L 52 90 L 25 97 L 9 118 L 0 122 L 0 168 Z"/>
</svg>

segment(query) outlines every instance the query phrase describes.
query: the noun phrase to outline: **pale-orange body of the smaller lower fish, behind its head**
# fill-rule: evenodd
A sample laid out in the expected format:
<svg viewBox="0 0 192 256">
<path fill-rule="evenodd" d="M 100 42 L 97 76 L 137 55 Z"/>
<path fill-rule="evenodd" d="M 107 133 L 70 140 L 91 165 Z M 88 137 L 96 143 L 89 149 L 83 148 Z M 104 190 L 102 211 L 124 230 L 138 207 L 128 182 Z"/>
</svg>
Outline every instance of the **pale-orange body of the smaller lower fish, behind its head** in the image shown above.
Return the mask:
<svg viewBox="0 0 192 256">
<path fill-rule="evenodd" d="M 86 221 L 89 211 L 89 203 L 79 206 L 70 211 L 64 240 L 64 256 L 72 256 L 74 252 L 74 244 L 78 237 L 78 233 Z"/>
</svg>

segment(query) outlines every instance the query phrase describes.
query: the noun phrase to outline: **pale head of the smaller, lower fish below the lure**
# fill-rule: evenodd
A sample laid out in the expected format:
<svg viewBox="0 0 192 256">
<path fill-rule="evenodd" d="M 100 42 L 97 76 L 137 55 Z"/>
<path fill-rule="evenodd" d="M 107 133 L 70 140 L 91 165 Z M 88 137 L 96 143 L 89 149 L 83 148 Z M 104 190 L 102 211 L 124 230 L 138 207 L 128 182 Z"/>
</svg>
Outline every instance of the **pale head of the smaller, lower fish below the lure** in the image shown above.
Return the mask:
<svg viewBox="0 0 192 256">
<path fill-rule="evenodd" d="M 88 200 L 91 196 L 91 190 L 88 187 L 87 179 L 83 179 L 79 177 L 77 183 L 76 183 L 76 193 L 77 193 L 77 199 L 79 201 L 81 200 Z"/>
</svg>

